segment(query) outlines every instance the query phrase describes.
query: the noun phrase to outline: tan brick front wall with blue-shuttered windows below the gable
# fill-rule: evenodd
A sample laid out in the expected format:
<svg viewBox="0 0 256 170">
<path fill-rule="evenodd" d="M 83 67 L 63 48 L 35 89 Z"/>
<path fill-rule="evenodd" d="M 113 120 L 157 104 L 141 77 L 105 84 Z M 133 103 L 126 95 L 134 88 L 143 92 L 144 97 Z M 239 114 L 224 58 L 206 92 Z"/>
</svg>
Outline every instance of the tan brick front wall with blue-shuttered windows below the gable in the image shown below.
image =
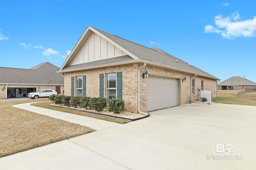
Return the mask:
<svg viewBox="0 0 256 170">
<path fill-rule="evenodd" d="M 71 95 L 71 77 L 86 75 L 86 96 L 100 96 L 100 74 L 104 74 L 104 97 L 106 97 L 106 74 L 122 72 L 122 94 L 125 101 L 125 108 L 130 112 L 137 113 L 138 101 L 138 84 L 137 72 L 138 64 L 129 64 L 125 66 L 112 66 L 108 68 L 97 68 L 91 70 L 82 70 L 76 72 L 68 72 L 65 74 L 65 95 Z M 75 78 L 76 80 L 76 78 Z M 74 81 L 76 87 L 76 81 Z M 74 90 L 76 96 L 76 90 Z"/>
</svg>

